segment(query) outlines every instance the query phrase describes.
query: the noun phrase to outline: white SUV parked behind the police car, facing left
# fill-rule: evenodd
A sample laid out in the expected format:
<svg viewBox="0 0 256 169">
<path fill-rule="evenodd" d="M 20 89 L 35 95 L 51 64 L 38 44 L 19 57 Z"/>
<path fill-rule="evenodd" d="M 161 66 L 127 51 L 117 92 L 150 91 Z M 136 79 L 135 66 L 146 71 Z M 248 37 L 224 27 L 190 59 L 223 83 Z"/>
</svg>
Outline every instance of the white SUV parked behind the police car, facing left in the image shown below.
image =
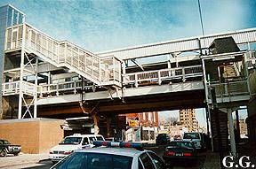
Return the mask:
<svg viewBox="0 0 256 169">
<path fill-rule="evenodd" d="M 104 141 L 104 137 L 100 134 L 73 134 L 64 138 L 59 145 L 50 150 L 49 158 L 52 163 L 57 163 L 62 158 L 67 157 L 74 150 L 90 149 L 94 145 L 93 141 Z"/>
</svg>

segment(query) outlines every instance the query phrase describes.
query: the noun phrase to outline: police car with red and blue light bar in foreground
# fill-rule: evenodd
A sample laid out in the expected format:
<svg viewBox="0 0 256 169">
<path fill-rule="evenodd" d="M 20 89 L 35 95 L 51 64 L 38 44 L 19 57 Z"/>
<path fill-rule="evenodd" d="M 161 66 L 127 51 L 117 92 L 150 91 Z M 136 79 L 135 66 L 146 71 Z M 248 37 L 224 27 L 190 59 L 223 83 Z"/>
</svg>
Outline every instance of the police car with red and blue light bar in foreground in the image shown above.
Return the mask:
<svg viewBox="0 0 256 169">
<path fill-rule="evenodd" d="M 136 150 L 140 143 L 132 142 L 94 142 L 91 150 L 75 150 L 74 153 L 53 165 L 52 169 L 165 169 L 161 157 L 150 150 Z M 114 146 L 114 147 L 113 147 Z"/>
</svg>

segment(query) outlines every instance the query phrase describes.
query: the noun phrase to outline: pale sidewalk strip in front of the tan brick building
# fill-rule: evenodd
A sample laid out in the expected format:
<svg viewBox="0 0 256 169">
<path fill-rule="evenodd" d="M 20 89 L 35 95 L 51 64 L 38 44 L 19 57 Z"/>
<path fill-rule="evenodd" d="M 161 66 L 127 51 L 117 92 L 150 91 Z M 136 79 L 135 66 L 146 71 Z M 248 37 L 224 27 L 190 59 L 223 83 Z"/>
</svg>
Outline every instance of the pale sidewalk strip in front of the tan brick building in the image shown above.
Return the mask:
<svg viewBox="0 0 256 169">
<path fill-rule="evenodd" d="M 37 163 L 48 159 L 49 155 L 45 154 L 20 154 L 19 156 L 8 155 L 7 157 L 0 157 L 0 168 L 12 165 Z"/>
</svg>

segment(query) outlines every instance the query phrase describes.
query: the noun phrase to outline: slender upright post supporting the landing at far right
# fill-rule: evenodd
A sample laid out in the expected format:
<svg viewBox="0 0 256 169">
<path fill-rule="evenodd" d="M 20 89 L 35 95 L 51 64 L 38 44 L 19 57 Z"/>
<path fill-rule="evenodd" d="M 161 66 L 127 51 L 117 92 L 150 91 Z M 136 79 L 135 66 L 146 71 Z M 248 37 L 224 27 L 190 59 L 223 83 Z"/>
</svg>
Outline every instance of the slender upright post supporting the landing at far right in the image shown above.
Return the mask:
<svg viewBox="0 0 256 169">
<path fill-rule="evenodd" d="M 232 117 L 232 110 L 227 109 L 228 111 L 228 128 L 230 135 L 230 147 L 232 156 L 236 157 L 236 141 L 235 141 L 235 132 L 234 132 L 234 121 Z"/>
</svg>

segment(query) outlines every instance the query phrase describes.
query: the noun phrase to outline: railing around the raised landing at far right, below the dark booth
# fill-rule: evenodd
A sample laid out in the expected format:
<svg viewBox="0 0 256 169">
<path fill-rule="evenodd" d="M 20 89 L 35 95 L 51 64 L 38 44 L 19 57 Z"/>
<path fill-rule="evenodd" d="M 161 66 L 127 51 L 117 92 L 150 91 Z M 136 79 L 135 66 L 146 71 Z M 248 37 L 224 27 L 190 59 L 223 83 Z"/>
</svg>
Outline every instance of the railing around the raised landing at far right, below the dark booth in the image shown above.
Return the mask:
<svg viewBox="0 0 256 169">
<path fill-rule="evenodd" d="M 208 86 L 209 93 L 210 89 L 215 88 L 216 97 L 227 97 L 227 96 L 242 96 L 249 95 L 247 81 L 228 81 L 225 83 L 211 82 L 210 88 Z M 211 96 L 209 96 L 211 98 Z"/>
</svg>

